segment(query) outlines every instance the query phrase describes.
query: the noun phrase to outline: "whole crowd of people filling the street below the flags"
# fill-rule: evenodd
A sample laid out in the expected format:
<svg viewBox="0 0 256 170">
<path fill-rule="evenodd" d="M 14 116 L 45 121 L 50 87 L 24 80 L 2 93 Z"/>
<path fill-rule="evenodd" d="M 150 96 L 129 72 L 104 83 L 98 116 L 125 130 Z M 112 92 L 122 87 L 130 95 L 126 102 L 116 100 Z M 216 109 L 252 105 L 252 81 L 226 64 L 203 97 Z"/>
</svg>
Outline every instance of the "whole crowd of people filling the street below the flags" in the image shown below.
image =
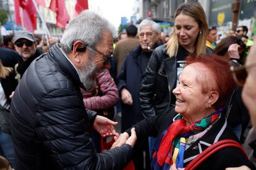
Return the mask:
<svg viewBox="0 0 256 170">
<path fill-rule="evenodd" d="M 90 10 L 60 42 L 0 36 L 1 166 L 256 169 L 241 145 L 256 149 L 254 127 L 245 135 L 256 126 L 256 39 L 247 33 L 237 26 L 217 41 L 202 6 L 184 2 L 168 38 L 150 19 L 118 36 Z"/>
</svg>

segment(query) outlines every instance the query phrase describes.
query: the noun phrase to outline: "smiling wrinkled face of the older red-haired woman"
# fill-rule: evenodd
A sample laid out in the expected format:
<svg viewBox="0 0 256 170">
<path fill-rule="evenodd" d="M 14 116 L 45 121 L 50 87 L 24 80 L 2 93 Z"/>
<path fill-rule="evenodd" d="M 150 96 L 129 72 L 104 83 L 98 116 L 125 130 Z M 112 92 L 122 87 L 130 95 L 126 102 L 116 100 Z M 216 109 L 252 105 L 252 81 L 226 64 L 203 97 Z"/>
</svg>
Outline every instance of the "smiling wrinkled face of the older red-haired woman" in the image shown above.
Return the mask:
<svg viewBox="0 0 256 170">
<path fill-rule="evenodd" d="M 184 68 L 179 83 L 173 90 L 176 95 L 175 111 L 181 113 L 184 118 L 198 115 L 207 115 L 208 94 L 203 93 L 203 85 L 210 83 L 202 73 L 200 64 L 190 64 Z"/>
</svg>

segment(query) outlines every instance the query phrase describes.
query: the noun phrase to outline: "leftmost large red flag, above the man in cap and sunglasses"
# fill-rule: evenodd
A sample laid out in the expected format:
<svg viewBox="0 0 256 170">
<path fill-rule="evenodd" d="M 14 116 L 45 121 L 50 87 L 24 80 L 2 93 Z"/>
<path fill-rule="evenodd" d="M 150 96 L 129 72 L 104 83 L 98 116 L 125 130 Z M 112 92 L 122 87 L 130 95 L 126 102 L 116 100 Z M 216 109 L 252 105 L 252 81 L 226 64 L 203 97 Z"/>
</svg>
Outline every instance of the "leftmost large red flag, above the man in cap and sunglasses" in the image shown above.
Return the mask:
<svg viewBox="0 0 256 170">
<path fill-rule="evenodd" d="M 22 26 L 23 21 L 26 30 L 32 33 L 36 30 L 36 8 L 32 0 L 14 0 L 14 12 L 16 25 Z"/>
</svg>

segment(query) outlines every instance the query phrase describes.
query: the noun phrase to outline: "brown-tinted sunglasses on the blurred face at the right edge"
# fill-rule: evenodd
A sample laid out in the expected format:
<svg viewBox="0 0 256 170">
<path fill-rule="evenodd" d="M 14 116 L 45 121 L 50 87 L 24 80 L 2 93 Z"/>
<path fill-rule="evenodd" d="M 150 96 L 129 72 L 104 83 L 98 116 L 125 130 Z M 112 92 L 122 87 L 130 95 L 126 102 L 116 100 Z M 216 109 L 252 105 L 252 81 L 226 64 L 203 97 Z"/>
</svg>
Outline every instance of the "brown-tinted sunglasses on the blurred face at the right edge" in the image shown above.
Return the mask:
<svg viewBox="0 0 256 170">
<path fill-rule="evenodd" d="M 230 70 L 232 72 L 234 81 L 238 86 L 244 86 L 245 80 L 247 78 L 246 68 L 255 67 L 256 63 L 252 63 L 249 65 L 239 65 L 239 66 L 231 66 Z"/>
</svg>

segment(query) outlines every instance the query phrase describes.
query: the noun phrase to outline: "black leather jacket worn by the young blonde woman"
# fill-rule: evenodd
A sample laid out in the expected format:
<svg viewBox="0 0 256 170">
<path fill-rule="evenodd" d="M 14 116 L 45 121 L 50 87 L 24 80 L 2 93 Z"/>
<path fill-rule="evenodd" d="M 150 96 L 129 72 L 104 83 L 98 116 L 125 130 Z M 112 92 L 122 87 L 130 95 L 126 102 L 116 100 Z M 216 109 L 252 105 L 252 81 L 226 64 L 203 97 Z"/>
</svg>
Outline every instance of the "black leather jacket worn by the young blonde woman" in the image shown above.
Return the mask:
<svg viewBox="0 0 256 170">
<path fill-rule="evenodd" d="M 212 49 L 207 47 L 207 54 Z M 157 47 L 148 62 L 140 88 L 143 116 L 155 116 L 171 107 L 171 93 L 177 83 L 177 57 L 169 57 L 166 45 Z"/>
</svg>

